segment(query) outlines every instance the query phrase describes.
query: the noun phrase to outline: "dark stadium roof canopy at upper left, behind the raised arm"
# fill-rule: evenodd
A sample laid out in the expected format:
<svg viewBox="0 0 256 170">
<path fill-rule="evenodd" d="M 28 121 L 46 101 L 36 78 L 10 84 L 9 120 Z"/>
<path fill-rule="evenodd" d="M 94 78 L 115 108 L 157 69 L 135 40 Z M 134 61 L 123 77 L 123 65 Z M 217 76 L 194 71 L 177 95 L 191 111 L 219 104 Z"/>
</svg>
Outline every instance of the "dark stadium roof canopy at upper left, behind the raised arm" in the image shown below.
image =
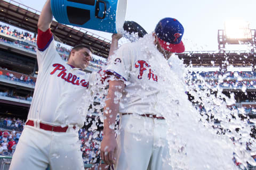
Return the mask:
<svg viewBox="0 0 256 170">
<path fill-rule="evenodd" d="M 0 21 L 15 27 L 37 33 L 37 21 L 41 12 L 13 0 L 0 1 Z M 86 44 L 93 48 L 94 54 L 107 58 L 111 41 L 95 35 L 83 28 L 52 22 L 51 31 L 57 41 L 75 46 Z"/>
</svg>

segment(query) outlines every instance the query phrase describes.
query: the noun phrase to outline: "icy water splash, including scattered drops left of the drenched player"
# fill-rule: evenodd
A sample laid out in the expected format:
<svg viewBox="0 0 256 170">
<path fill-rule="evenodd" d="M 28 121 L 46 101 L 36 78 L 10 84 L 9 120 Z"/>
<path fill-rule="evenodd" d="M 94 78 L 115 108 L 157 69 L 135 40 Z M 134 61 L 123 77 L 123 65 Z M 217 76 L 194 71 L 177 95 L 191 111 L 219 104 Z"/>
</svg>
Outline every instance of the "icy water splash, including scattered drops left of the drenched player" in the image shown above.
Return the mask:
<svg viewBox="0 0 256 170">
<path fill-rule="evenodd" d="M 250 152 L 246 150 L 246 142 L 252 143 L 252 150 L 256 149 L 255 140 L 250 136 L 251 127 L 239 118 L 237 110 L 227 108 L 227 105 L 235 104 L 234 94 L 230 94 L 228 98 L 222 94 L 218 84 L 212 87 L 199 74 L 196 75 L 199 81 L 194 81 L 189 69 L 185 69 L 178 56 L 172 55 L 169 61 L 166 61 L 153 43 L 148 43 L 151 41 L 153 41 L 152 37 L 148 35 L 141 40 L 141 43 L 146 45 L 142 49 L 145 50 L 145 55 L 154 54 L 154 58 L 149 58 L 149 63 L 154 67 L 154 72 L 161 75 L 159 79 L 164 80 L 158 81 L 158 86 L 162 88 L 157 95 L 157 103 L 154 107 L 157 114 L 163 115 L 168 124 L 166 131 L 170 158 L 166 161 L 173 169 L 226 170 L 237 169 L 233 162 L 235 155 L 238 162 L 243 165 L 246 166 L 247 162 L 255 165 Z M 219 77 L 219 82 L 223 82 L 227 76 Z M 235 77 L 238 78 L 238 74 L 235 73 Z M 99 111 L 105 106 L 107 80 L 114 80 L 114 78 L 106 79 L 103 84 L 101 78 L 98 78 L 98 86 L 91 88 L 91 91 L 101 98 L 101 103 L 97 106 L 93 105 L 91 110 Z M 201 85 L 201 88 L 198 85 Z M 188 100 L 185 91 L 194 97 L 193 103 L 205 108 L 205 112 L 199 112 L 196 109 Z M 116 98 L 119 99 L 120 94 L 117 93 Z M 214 120 L 209 117 L 220 121 L 220 126 L 216 126 Z M 100 119 L 103 122 L 102 113 Z M 239 128 L 238 132 L 237 128 Z M 96 127 L 93 128 L 94 131 L 95 129 Z M 140 140 L 140 136 L 135 136 L 134 140 Z"/>
</svg>

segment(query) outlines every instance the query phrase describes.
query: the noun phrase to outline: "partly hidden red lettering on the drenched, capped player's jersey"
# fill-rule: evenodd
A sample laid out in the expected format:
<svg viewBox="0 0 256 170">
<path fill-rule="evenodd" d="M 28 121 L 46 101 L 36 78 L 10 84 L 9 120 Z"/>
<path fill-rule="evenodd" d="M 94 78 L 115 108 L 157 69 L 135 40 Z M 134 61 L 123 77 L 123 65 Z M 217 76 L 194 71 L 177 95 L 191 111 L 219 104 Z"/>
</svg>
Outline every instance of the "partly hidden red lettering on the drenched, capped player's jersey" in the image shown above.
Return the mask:
<svg viewBox="0 0 256 170">
<path fill-rule="evenodd" d="M 150 69 L 150 65 L 146 61 L 138 60 L 135 63 L 135 68 L 140 69 L 138 79 L 142 79 L 143 73 L 148 70 L 148 80 L 153 79 L 154 81 L 157 81 L 157 75 L 153 73 L 153 70 Z"/>
</svg>

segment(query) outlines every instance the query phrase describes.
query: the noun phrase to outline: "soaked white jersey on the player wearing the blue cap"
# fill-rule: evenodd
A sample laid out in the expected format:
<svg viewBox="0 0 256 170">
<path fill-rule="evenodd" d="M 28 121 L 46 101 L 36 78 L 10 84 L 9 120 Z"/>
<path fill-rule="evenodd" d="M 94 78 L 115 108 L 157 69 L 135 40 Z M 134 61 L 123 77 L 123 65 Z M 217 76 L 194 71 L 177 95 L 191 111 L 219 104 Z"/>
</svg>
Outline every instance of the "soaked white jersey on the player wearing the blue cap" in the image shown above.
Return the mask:
<svg viewBox="0 0 256 170">
<path fill-rule="evenodd" d="M 154 54 L 150 53 L 152 50 Z M 126 81 L 119 113 L 161 115 L 156 111 L 155 106 L 157 94 L 161 88 L 158 82 L 162 79 L 155 74 L 156 70 L 150 63 L 157 62 L 154 60 L 155 54 L 162 55 L 154 46 L 153 37 L 150 34 L 136 43 L 122 45 L 111 56 L 105 72 Z"/>
</svg>

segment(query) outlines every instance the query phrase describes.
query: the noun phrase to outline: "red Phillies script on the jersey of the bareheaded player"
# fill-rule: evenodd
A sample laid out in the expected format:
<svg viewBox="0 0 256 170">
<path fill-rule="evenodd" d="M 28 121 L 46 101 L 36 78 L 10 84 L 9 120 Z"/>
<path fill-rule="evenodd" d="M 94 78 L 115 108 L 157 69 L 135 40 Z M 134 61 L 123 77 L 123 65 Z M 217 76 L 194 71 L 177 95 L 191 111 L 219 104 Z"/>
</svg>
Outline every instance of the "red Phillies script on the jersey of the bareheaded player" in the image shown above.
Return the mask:
<svg viewBox="0 0 256 170">
<path fill-rule="evenodd" d="M 57 76 L 61 77 L 61 79 L 72 83 L 74 85 L 81 85 L 85 88 L 89 88 L 89 82 L 85 81 L 84 79 L 80 80 L 79 77 L 77 77 L 76 75 L 73 75 L 72 73 L 66 73 L 67 69 L 65 68 L 65 66 L 63 66 L 62 64 L 53 64 L 53 67 L 55 67 L 55 69 L 50 73 L 51 75 L 54 74 L 57 71 L 61 71 Z M 67 76 L 66 76 L 67 75 Z"/>
</svg>

